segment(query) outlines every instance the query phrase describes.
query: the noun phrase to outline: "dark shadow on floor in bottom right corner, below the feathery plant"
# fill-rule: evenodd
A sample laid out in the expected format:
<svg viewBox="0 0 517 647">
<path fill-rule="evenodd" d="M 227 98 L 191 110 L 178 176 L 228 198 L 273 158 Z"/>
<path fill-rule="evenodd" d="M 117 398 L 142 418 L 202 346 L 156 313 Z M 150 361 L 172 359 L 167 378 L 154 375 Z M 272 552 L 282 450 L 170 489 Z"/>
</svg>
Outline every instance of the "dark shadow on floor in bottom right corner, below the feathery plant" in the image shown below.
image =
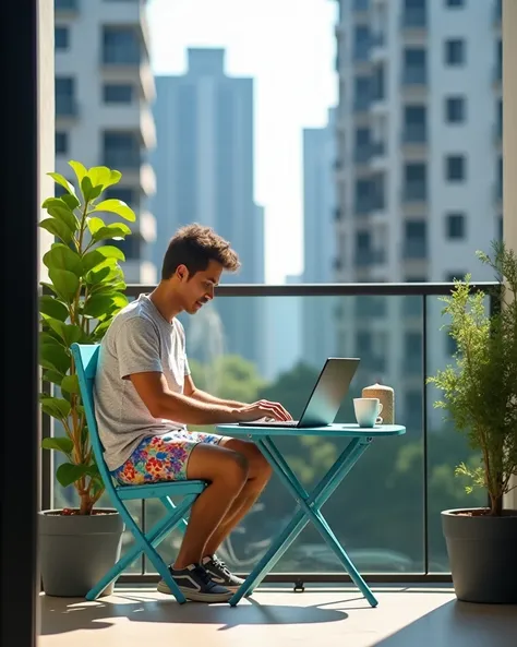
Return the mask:
<svg viewBox="0 0 517 647">
<path fill-rule="evenodd" d="M 517 606 L 450 600 L 372 647 L 516 647 Z"/>
</svg>

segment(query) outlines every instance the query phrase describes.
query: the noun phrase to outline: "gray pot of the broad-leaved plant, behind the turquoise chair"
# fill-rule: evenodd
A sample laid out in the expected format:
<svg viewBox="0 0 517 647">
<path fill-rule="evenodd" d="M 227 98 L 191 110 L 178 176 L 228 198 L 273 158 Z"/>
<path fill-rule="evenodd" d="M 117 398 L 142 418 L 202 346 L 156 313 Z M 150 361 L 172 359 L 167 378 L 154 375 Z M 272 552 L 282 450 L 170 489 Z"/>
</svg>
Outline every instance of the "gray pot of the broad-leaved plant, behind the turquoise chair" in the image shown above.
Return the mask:
<svg viewBox="0 0 517 647">
<path fill-rule="evenodd" d="M 43 588 L 48 596 L 84 597 L 119 560 L 124 524 L 111 508 L 88 516 L 60 512 L 39 513 Z M 110 585 L 104 595 L 112 590 Z"/>
</svg>

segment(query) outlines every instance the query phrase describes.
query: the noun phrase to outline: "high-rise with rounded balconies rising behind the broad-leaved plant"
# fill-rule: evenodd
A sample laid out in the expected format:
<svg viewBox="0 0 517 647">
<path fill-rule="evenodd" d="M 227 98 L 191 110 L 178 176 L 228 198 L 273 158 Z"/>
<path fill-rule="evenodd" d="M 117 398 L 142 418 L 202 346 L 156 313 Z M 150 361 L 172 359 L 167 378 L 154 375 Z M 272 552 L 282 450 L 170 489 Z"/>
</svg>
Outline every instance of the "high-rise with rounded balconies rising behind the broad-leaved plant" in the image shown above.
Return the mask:
<svg viewBox="0 0 517 647">
<path fill-rule="evenodd" d="M 125 279 L 153 284 L 155 83 L 145 11 L 135 0 L 56 0 L 56 166 L 70 179 L 70 159 L 121 171 L 107 197 L 123 200 L 137 216 L 133 235 L 117 243 Z"/>
</svg>

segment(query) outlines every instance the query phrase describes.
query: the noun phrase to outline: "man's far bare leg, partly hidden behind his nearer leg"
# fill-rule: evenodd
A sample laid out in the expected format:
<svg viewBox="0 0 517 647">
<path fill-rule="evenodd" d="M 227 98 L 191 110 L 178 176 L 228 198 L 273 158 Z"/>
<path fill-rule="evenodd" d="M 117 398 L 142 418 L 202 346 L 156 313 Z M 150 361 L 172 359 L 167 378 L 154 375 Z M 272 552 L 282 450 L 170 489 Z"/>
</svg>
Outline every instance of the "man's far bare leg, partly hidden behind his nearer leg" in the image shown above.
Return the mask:
<svg viewBox="0 0 517 647">
<path fill-rule="evenodd" d="M 220 524 L 205 544 L 203 556 L 212 556 L 217 551 L 221 542 L 250 512 L 272 475 L 269 464 L 254 443 L 238 439 L 225 439 L 221 441 L 220 446 L 232 450 L 245 457 L 249 465 L 249 476 L 240 494 L 235 499 Z"/>
</svg>

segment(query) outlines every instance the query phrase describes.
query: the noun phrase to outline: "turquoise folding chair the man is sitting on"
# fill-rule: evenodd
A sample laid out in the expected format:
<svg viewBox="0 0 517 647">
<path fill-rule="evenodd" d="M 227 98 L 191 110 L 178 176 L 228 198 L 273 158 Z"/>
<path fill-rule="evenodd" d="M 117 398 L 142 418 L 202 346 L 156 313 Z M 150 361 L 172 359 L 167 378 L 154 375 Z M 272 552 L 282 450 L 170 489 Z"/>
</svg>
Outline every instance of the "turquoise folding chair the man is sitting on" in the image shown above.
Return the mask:
<svg viewBox="0 0 517 647">
<path fill-rule="evenodd" d="M 95 454 L 100 476 L 103 477 L 106 492 L 112 505 L 122 516 L 125 527 L 132 532 L 135 546 L 121 558 L 117 564 L 94 586 L 87 594 L 87 600 L 97 599 L 100 594 L 117 577 L 130 566 L 142 553 L 151 560 L 153 566 L 165 579 L 172 595 L 181 604 L 185 597 L 172 579 L 167 564 L 159 556 L 156 547 L 176 528 L 179 524 L 187 525 L 183 516 L 189 512 L 196 498 L 203 492 L 207 483 L 205 481 L 166 481 L 159 483 L 146 483 L 144 486 L 118 486 L 109 474 L 104 460 L 104 450 L 98 434 L 94 407 L 94 381 L 97 371 L 99 345 L 72 344 L 72 355 L 77 371 L 81 396 L 86 414 L 92 446 Z M 181 496 L 181 503 L 176 506 L 170 496 Z M 148 532 L 143 532 L 129 513 L 125 502 L 135 499 L 159 499 L 165 506 L 167 514 Z"/>
</svg>

